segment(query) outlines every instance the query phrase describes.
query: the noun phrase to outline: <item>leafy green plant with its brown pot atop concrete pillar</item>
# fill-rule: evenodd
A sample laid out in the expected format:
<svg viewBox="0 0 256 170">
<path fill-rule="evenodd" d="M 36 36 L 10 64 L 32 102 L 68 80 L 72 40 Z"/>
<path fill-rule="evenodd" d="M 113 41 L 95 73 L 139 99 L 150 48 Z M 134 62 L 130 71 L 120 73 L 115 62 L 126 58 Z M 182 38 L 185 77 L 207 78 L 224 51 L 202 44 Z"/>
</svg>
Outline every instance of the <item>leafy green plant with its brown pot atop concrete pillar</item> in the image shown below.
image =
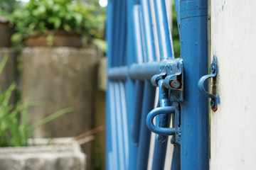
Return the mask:
<svg viewBox="0 0 256 170">
<path fill-rule="evenodd" d="M 82 35 L 86 42 L 102 39 L 105 15 L 80 1 L 31 0 L 15 9 L 10 19 L 16 45 L 82 47 Z"/>
</svg>

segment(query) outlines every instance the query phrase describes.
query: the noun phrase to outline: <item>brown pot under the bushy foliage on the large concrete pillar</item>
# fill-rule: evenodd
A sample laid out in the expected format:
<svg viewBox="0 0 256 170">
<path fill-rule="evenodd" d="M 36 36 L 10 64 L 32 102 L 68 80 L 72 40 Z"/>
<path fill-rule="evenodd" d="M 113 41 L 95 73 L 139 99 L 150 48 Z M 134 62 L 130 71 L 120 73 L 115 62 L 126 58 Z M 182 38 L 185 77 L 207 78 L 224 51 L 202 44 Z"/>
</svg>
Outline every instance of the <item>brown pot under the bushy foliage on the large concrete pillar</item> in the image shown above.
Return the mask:
<svg viewBox="0 0 256 170">
<path fill-rule="evenodd" d="M 48 42 L 48 35 L 53 34 L 53 41 Z M 46 33 L 32 33 L 25 40 L 26 47 L 82 47 L 82 37 L 74 32 L 49 30 Z"/>
</svg>

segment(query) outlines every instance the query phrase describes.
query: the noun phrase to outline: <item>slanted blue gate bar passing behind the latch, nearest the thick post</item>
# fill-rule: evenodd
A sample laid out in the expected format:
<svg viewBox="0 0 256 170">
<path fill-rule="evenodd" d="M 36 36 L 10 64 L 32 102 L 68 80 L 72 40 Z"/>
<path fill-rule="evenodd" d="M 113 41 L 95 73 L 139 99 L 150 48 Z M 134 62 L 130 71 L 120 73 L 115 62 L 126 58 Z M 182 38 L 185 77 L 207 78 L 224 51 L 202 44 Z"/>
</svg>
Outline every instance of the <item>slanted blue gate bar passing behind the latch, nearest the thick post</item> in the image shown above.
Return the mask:
<svg viewBox="0 0 256 170">
<path fill-rule="evenodd" d="M 156 12 L 156 28 L 157 28 L 157 34 L 159 38 L 159 51 L 160 51 L 160 60 L 166 60 L 166 59 L 173 59 L 174 58 L 174 50 L 172 45 L 172 39 L 170 35 L 168 20 L 167 20 L 167 13 L 166 13 L 166 4 L 164 0 L 154 0 L 154 6 L 155 6 L 155 12 Z M 161 87 L 159 87 L 161 88 Z M 159 94 L 161 95 L 161 94 Z M 164 106 L 161 106 L 164 107 Z M 166 123 L 169 123 L 169 115 L 157 115 L 156 116 L 156 125 L 165 127 Z M 167 118 L 166 118 L 167 117 Z M 164 123 L 164 120 L 167 121 Z M 159 123 L 161 122 L 161 125 Z M 160 143 L 159 141 L 163 141 L 161 139 L 164 139 L 164 136 L 162 135 L 156 135 L 156 142 L 154 146 L 154 157 L 153 157 L 153 165 L 152 169 L 164 169 L 164 162 L 166 157 L 166 147 L 167 142 L 164 141 Z M 173 156 L 173 162 L 175 164 L 178 164 L 180 161 L 180 157 L 178 157 L 180 154 L 178 154 L 179 147 L 174 148 L 174 156 Z M 173 166 L 174 167 L 174 166 Z"/>
</svg>

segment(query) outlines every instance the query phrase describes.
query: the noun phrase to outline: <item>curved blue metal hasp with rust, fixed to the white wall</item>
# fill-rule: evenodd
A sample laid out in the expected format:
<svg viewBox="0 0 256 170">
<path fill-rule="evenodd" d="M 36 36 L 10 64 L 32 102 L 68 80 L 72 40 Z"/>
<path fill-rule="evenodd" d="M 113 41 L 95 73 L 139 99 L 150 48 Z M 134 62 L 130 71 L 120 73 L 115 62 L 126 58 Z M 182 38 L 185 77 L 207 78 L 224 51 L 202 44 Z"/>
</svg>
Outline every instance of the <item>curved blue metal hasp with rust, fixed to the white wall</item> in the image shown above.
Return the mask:
<svg viewBox="0 0 256 170">
<path fill-rule="evenodd" d="M 211 74 L 205 75 L 201 77 L 198 81 L 198 89 L 203 94 L 204 96 L 211 98 L 210 100 L 210 107 L 213 111 L 217 111 L 218 109 L 218 103 L 220 102 L 220 99 L 218 96 L 215 96 L 213 94 L 208 93 L 205 89 L 205 81 L 210 78 L 210 77 L 217 77 L 218 75 L 218 62 L 217 62 L 217 57 L 213 56 L 213 62 L 210 64 L 210 72 Z M 207 82 L 207 81 L 206 81 Z"/>
</svg>

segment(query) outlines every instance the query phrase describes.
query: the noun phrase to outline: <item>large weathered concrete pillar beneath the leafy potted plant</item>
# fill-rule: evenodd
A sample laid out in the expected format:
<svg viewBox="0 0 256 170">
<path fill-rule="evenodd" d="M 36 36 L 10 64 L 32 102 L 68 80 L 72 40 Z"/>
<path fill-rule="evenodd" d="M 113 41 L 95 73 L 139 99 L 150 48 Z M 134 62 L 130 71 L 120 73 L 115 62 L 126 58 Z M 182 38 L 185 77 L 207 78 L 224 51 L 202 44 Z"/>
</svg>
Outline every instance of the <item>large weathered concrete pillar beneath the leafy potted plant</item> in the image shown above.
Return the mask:
<svg viewBox="0 0 256 170">
<path fill-rule="evenodd" d="M 35 137 L 70 137 L 92 128 L 94 91 L 97 89 L 97 55 L 95 50 L 74 47 L 26 47 L 22 52 L 23 94 L 44 106 L 30 108 L 31 123 L 73 107 L 75 111 L 53 120 L 34 131 Z M 90 164 L 92 146 L 83 146 Z"/>
</svg>

